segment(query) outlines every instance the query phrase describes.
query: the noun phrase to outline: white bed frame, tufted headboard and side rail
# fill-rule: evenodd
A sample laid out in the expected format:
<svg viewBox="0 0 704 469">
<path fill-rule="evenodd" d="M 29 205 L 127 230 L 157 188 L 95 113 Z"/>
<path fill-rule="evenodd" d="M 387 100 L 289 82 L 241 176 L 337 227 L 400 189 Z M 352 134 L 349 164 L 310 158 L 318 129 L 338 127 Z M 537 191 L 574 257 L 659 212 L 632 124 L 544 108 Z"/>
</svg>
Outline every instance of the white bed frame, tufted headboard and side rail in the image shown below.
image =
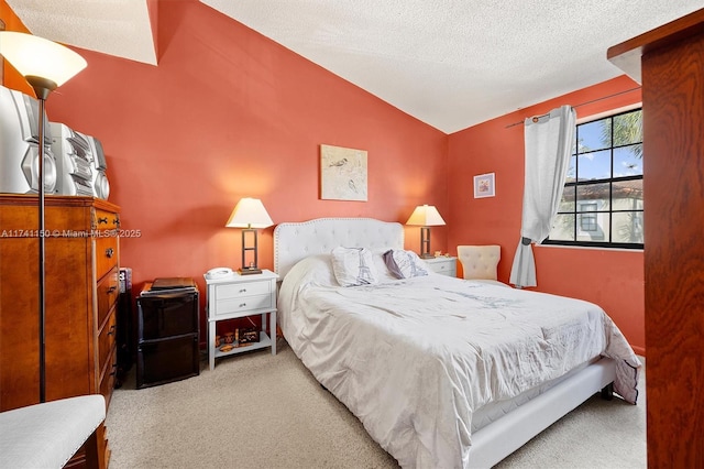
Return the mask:
<svg viewBox="0 0 704 469">
<path fill-rule="evenodd" d="M 283 280 L 296 262 L 328 254 L 338 247 L 373 252 L 404 249 L 404 227 L 371 218 L 319 218 L 280 223 L 274 229 L 274 269 Z M 549 391 L 472 434 L 470 466 L 487 468 L 578 407 L 595 393 L 610 399 L 616 377 L 614 360 L 602 358 Z"/>
</svg>

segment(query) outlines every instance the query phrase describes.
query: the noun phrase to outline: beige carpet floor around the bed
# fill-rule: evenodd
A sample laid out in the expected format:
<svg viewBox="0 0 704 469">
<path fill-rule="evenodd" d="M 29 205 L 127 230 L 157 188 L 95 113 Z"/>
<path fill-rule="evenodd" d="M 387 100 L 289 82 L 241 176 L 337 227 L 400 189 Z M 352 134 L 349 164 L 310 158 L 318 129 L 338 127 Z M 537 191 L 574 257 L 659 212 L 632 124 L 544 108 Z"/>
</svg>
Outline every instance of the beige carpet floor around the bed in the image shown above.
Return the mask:
<svg viewBox="0 0 704 469">
<path fill-rule="evenodd" d="M 278 353 L 219 360 L 213 371 L 143 390 L 134 368 L 107 417 L 111 469 L 393 468 L 394 458 L 278 340 Z M 593 397 L 501 468 L 645 468 L 645 383 L 637 406 Z"/>
</svg>

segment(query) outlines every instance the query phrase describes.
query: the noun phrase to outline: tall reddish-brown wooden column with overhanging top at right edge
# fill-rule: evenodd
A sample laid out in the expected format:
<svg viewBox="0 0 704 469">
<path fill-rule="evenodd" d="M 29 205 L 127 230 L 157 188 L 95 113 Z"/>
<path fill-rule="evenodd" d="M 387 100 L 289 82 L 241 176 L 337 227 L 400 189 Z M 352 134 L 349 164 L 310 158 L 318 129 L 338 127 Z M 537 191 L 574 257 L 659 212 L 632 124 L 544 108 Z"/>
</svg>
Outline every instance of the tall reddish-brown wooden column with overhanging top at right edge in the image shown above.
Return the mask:
<svg viewBox="0 0 704 469">
<path fill-rule="evenodd" d="M 704 461 L 704 10 L 607 57 L 642 83 L 648 467 Z"/>
</svg>

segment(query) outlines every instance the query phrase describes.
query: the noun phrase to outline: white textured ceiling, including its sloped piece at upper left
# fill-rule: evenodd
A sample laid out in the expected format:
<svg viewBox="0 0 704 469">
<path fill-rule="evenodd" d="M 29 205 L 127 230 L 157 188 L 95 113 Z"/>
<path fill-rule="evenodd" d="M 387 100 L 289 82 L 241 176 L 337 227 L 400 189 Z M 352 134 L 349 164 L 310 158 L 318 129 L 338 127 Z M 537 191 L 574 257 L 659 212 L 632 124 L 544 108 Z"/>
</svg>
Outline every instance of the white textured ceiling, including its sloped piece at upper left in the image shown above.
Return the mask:
<svg viewBox="0 0 704 469">
<path fill-rule="evenodd" d="M 155 64 L 147 0 L 8 0 L 37 35 Z M 160 8 L 169 1 L 161 0 Z M 451 133 L 613 78 L 702 0 L 200 0 Z M 576 103 L 573 103 L 576 105 Z"/>
</svg>

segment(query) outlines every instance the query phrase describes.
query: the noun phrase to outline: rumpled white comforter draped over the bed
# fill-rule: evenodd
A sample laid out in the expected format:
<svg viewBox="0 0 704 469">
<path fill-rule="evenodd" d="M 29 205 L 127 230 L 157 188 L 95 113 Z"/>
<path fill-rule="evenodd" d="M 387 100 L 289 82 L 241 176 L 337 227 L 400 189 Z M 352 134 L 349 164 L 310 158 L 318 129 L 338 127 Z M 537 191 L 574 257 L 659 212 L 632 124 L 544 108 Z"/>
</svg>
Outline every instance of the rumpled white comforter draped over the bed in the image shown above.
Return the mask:
<svg viewBox="0 0 704 469">
<path fill-rule="evenodd" d="M 600 355 L 636 401 L 640 362 L 594 304 L 438 274 L 336 285 L 326 255 L 294 266 L 278 298 L 284 336 L 403 467 L 466 467 L 474 411 Z"/>
</svg>

